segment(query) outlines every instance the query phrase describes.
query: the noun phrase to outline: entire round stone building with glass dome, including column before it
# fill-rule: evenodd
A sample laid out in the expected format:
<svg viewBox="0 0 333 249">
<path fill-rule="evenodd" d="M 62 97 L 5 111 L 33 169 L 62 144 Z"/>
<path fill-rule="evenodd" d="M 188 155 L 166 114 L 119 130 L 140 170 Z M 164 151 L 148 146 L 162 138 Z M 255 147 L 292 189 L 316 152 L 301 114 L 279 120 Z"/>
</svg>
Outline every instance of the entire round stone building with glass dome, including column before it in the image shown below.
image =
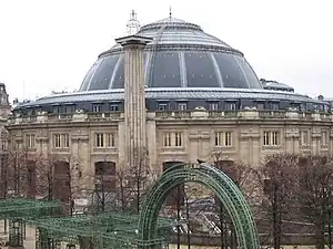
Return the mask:
<svg viewBox="0 0 333 249">
<path fill-rule="evenodd" d="M 78 92 L 19 103 L 7 129 L 10 146 L 75 162 L 82 186 L 92 186 L 84 176 L 105 165 L 114 175 L 138 158 L 162 172 L 215 151 L 252 166 L 283 151 L 331 154 L 330 108 L 260 81 L 241 51 L 170 17 L 118 39 Z"/>
</svg>

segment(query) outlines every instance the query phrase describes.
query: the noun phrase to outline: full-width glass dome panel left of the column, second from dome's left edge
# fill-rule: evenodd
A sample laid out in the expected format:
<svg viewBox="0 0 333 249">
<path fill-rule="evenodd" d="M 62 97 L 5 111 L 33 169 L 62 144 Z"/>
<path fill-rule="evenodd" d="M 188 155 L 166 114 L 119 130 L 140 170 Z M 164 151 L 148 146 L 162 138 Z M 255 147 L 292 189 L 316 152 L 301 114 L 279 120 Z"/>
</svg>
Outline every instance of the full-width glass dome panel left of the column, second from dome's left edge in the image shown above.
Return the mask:
<svg viewBox="0 0 333 249">
<path fill-rule="evenodd" d="M 109 56 L 102 59 L 102 62 L 95 71 L 90 84 L 90 90 L 108 90 L 111 76 L 118 62 L 118 56 Z"/>
</svg>

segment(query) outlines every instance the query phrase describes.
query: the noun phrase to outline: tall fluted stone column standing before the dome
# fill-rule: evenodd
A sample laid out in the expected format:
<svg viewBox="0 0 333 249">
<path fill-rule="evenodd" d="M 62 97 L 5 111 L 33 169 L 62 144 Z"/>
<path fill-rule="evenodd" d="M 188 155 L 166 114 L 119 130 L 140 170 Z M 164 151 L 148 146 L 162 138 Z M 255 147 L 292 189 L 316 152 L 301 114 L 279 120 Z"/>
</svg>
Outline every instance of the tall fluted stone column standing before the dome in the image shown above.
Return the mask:
<svg viewBox="0 0 333 249">
<path fill-rule="evenodd" d="M 124 163 L 129 167 L 138 167 L 147 154 L 143 51 L 151 41 L 135 34 L 115 40 L 124 49 Z"/>
</svg>

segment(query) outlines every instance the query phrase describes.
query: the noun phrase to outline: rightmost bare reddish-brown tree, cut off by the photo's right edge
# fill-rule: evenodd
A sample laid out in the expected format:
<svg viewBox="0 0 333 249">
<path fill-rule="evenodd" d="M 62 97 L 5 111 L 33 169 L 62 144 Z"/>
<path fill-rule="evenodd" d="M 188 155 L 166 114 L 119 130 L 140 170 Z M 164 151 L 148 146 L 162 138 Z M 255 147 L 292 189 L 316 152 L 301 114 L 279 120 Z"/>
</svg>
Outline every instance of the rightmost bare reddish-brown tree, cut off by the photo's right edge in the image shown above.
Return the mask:
<svg viewBox="0 0 333 249">
<path fill-rule="evenodd" d="M 327 228 L 327 245 L 331 249 L 333 158 L 327 156 L 302 156 L 299 172 L 301 210 L 305 219 L 314 224 L 316 248 L 324 248 Z"/>
</svg>

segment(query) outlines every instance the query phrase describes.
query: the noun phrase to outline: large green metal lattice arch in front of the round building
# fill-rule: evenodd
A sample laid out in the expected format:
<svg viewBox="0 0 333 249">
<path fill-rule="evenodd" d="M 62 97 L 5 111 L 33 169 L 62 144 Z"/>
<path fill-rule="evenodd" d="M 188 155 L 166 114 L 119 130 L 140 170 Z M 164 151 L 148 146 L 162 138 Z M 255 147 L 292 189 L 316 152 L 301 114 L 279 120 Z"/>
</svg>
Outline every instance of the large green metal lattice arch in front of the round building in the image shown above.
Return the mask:
<svg viewBox="0 0 333 249">
<path fill-rule="evenodd" d="M 143 242 L 147 241 L 148 245 L 155 238 L 159 211 L 171 189 L 189 181 L 199 183 L 218 196 L 234 225 L 240 248 L 260 248 L 254 219 L 241 190 L 224 173 L 206 164 L 180 164 L 163 173 L 142 206 L 139 235 Z M 143 246 L 142 248 L 153 247 Z"/>
</svg>

